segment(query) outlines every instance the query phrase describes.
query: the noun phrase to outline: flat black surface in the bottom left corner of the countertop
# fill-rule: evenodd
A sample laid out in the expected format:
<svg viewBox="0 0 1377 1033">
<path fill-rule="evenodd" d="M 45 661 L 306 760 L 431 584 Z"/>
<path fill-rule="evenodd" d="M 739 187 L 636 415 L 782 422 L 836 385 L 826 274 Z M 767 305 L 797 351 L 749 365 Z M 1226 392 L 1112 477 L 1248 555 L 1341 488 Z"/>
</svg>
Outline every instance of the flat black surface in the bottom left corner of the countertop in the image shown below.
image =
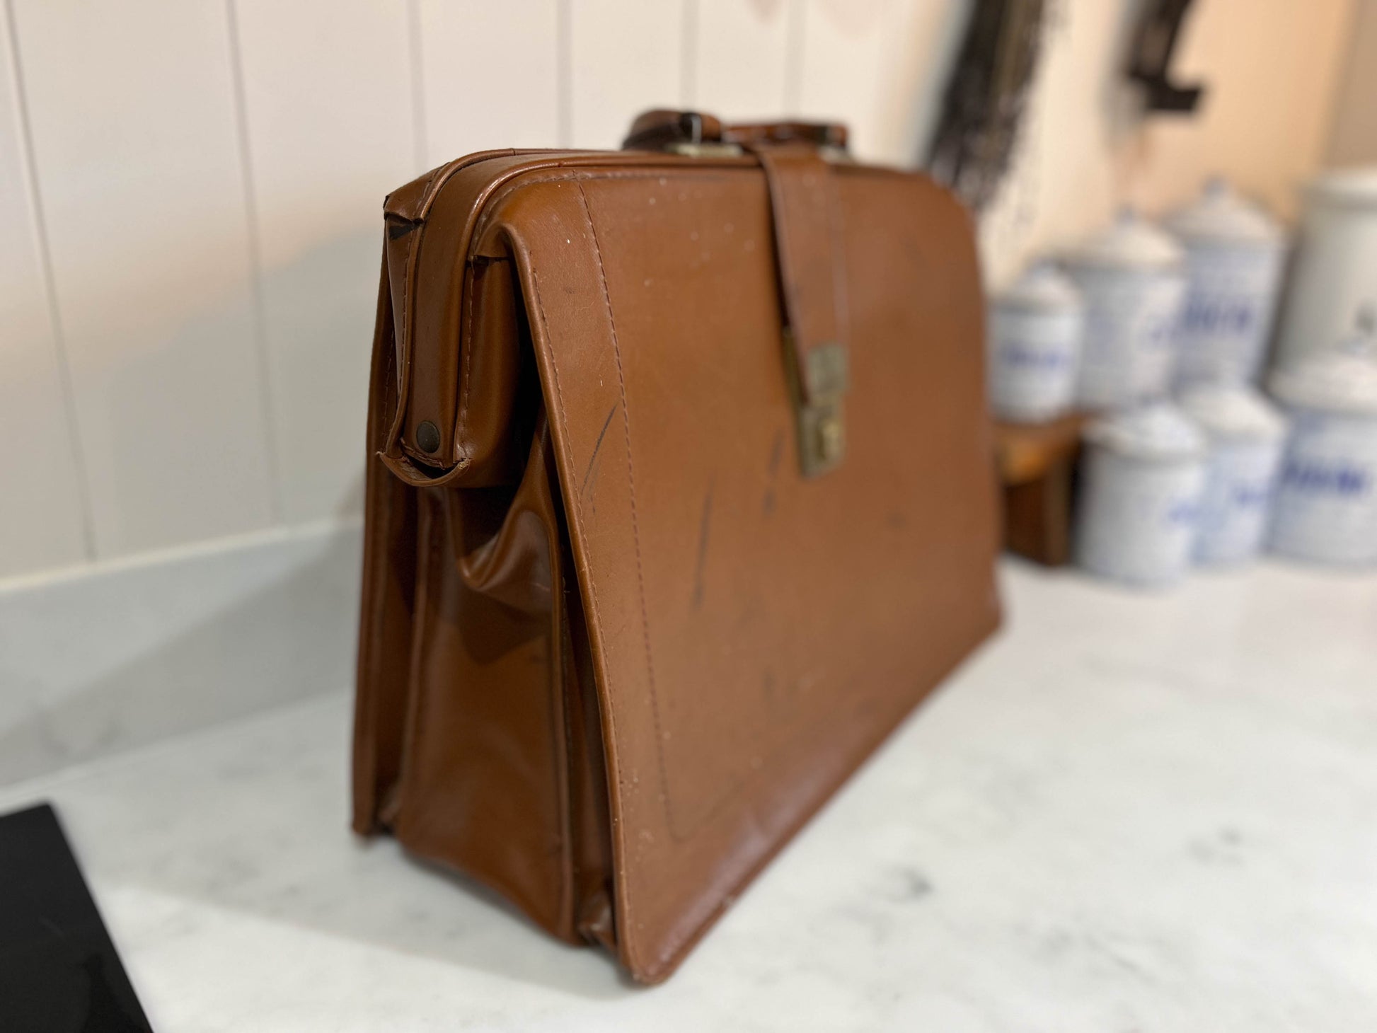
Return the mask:
<svg viewBox="0 0 1377 1033">
<path fill-rule="evenodd" d="M 0 817 L 0 1030 L 151 1030 L 48 804 Z"/>
</svg>

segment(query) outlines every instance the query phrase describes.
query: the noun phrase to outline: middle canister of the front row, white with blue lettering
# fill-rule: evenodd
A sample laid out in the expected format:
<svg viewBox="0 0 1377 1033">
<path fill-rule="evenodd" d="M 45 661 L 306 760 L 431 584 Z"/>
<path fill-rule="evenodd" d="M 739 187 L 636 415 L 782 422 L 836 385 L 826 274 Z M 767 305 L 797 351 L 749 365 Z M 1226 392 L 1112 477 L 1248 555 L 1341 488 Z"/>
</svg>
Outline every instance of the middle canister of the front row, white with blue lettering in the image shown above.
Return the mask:
<svg viewBox="0 0 1377 1033">
<path fill-rule="evenodd" d="M 1191 384 L 1181 391 L 1180 405 L 1209 439 L 1195 562 L 1219 566 L 1252 559 L 1267 537 L 1286 419 L 1245 384 Z"/>
</svg>

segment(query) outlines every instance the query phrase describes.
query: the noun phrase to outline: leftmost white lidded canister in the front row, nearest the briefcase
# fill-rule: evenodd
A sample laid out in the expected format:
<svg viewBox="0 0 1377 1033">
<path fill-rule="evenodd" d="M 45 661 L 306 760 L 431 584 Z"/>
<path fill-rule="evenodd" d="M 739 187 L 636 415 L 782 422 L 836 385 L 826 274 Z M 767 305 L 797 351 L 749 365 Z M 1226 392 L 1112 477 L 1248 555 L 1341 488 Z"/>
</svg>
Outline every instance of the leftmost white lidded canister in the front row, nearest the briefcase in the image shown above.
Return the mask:
<svg viewBox="0 0 1377 1033">
<path fill-rule="evenodd" d="M 1093 421 L 1085 441 L 1081 566 L 1125 584 L 1175 584 L 1191 565 L 1205 434 L 1176 406 L 1150 402 Z"/>
</svg>

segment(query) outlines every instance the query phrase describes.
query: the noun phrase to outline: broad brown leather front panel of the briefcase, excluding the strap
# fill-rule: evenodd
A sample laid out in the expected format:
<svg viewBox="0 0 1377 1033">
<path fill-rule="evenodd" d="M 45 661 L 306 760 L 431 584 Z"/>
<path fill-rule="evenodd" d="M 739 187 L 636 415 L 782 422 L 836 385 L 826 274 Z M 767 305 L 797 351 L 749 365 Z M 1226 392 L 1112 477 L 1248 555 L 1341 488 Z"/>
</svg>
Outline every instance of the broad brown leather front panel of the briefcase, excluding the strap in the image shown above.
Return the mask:
<svg viewBox="0 0 1377 1033">
<path fill-rule="evenodd" d="M 834 189 L 850 445 L 812 481 L 759 165 L 527 171 L 475 229 L 519 269 L 599 682 L 618 949 L 646 981 L 997 623 L 969 222 L 916 175 L 839 167 Z"/>
</svg>

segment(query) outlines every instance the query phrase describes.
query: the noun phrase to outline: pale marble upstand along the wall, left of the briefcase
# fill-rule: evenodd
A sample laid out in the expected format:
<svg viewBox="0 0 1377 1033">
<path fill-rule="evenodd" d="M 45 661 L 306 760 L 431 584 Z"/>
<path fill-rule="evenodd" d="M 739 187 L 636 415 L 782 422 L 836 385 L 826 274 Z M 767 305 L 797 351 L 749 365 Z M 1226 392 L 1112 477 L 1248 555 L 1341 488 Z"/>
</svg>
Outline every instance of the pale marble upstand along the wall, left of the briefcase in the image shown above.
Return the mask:
<svg viewBox="0 0 1377 1033">
<path fill-rule="evenodd" d="M 0 583 L 0 784 L 353 682 L 361 523 Z"/>
</svg>

